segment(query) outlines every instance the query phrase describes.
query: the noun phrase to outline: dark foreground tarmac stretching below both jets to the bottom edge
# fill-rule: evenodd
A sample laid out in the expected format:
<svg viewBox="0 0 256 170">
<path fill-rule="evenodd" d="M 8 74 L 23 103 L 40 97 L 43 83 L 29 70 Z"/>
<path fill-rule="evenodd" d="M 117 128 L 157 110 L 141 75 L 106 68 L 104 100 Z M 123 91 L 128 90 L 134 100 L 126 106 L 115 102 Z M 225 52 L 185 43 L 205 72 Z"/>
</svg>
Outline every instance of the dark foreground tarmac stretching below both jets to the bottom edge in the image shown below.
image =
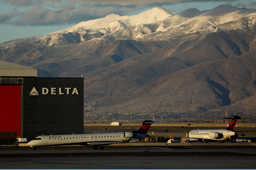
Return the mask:
<svg viewBox="0 0 256 170">
<path fill-rule="evenodd" d="M 174 143 L 166 146 L 165 142 L 135 142 L 108 145 L 104 150 L 78 145 L 37 147 L 36 151 L 27 146 L 0 147 L 0 167 L 1 169 L 255 169 L 255 151 L 256 147 L 253 143 Z"/>
</svg>

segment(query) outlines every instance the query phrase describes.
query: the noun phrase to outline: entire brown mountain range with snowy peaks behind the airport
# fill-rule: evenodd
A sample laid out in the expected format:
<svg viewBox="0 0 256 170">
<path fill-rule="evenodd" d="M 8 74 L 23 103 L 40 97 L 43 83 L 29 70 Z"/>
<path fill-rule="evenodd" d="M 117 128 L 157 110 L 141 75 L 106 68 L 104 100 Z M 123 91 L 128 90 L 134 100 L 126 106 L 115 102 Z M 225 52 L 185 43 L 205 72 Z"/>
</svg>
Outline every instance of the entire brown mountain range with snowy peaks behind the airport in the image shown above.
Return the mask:
<svg viewBox="0 0 256 170">
<path fill-rule="evenodd" d="M 0 60 L 36 68 L 38 77 L 83 74 L 84 103 L 100 112 L 252 114 L 255 50 L 255 9 L 158 7 L 1 43 Z"/>
</svg>

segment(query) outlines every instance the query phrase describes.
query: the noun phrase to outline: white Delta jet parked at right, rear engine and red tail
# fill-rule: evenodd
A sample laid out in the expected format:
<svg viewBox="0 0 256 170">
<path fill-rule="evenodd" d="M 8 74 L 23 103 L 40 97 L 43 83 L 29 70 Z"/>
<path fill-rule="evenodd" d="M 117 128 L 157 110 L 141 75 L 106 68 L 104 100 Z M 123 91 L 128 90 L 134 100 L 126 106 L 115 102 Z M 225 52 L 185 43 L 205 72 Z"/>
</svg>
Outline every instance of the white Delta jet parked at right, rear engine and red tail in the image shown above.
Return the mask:
<svg viewBox="0 0 256 170">
<path fill-rule="evenodd" d="M 227 139 L 245 139 L 245 138 L 238 138 L 238 134 L 234 132 L 236 121 L 238 119 L 255 119 L 249 117 L 240 117 L 240 116 L 232 116 L 230 118 L 224 119 L 231 119 L 227 129 L 208 129 L 208 130 L 191 130 L 188 133 L 189 141 L 195 140 L 203 140 L 203 141 L 221 141 L 224 142 Z M 247 138 L 252 139 L 252 138 Z"/>
</svg>

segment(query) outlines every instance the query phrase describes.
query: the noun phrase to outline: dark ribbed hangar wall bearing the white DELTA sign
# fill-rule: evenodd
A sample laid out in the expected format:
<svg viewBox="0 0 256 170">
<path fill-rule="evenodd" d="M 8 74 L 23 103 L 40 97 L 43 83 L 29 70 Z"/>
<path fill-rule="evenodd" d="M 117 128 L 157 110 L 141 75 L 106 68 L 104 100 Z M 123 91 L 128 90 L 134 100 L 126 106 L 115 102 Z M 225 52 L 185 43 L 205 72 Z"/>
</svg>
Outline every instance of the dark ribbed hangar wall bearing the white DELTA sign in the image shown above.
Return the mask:
<svg viewBox="0 0 256 170">
<path fill-rule="evenodd" d="M 83 78 L 24 78 L 24 137 L 84 132 Z M 35 87 L 35 88 L 34 88 Z"/>
</svg>

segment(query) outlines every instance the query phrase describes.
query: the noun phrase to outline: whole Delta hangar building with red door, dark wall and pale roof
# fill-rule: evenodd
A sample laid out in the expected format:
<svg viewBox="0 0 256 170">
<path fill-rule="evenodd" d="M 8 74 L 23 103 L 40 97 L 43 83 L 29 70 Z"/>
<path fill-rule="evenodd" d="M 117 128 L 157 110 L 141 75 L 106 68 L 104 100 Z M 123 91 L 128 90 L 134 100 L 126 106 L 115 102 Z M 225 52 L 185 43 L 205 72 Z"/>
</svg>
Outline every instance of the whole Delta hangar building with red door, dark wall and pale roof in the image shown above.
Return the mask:
<svg viewBox="0 0 256 170">
<path fill-rule="evenodd" d="M 18 137 L 84 133 L 84 78 L 37 78 L 0 61 L 0 131 Z"/>
</svg>

